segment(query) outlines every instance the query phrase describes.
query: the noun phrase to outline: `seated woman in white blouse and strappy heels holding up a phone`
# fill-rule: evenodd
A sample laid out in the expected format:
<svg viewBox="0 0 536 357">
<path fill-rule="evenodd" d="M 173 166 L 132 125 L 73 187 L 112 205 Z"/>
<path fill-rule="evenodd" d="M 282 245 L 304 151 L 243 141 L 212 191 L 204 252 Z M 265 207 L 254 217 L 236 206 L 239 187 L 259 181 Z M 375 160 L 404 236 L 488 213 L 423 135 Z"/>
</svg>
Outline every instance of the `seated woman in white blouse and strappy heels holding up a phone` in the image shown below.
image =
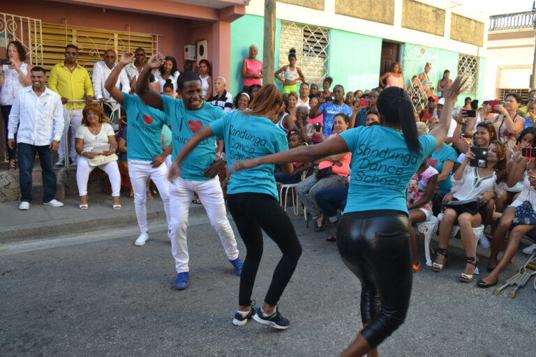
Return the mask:
<svg viewBox="0 0 536 357">
<path fill-rule="evenodd" d="M 489 145 L 487 167 L 472 167 L 470 160 L 475 158 L 471 151 L 466 153 L 463 164 L 452 176 L 453 193 L 445 196 L 445 200 L 475 200 L 479 199 L 478 212 L 469 213 L 463 208 L 455 210 L 446 208 L 439 226 L 439 248 L 432 264 L 435 272 L 440 272 L 445 267 L 447 259 L 447 247 L 452 236 L 452 227 L 457 223 L 460 227 L 460 236 L 463 248 L 466 251 L 466 268 L 460 275 L 462 282 L 472 282 L 475 274 L 477 261 L 475 260 L 475 234 L 473 227 L 478 227 L 486 218 L 486 204 L 490 199 L 500 195 L 497 183 L 502 180 L 506 172 L 506 148 L 502 142 L 493 141 Z"/>
</svg>

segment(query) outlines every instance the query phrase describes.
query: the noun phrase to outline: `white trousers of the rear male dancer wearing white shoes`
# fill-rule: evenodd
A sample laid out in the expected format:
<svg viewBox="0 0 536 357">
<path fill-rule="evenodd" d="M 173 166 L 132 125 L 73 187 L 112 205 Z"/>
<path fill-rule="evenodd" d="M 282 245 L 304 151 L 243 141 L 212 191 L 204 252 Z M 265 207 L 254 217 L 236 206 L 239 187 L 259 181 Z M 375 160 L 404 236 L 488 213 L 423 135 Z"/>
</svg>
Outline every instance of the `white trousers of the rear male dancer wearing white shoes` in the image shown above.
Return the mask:
<svg viewBox="0 0 536 357">
<path fill-rule="evenodd" d="M 164 204 L 165 218 L 170 227 L 170 181 L 168 181 L 168 167 L 162 164 L 156 168 L 151 166 L 150 161 L 128 160 L 128 176 L 131 178 L 134 192 L 134 208 L 136 211 L 137 225 L 140 232 L 147 233 L 147 179 L 151 179 Z"/>
</svg>

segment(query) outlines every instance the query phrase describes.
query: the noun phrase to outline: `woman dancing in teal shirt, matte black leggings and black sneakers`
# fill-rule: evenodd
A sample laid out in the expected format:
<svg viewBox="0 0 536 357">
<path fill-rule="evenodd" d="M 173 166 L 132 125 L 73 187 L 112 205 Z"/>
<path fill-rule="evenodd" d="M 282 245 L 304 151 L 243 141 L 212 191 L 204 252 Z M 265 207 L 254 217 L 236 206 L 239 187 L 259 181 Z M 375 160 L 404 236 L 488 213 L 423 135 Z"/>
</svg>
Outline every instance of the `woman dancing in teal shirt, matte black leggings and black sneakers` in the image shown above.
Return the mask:
<svg viewBox="0 0 536 357">
<path fill-rule="evenodd" d="M 198 142 L 216 135 L 225 141 L 228 165 L 237 160 L 288 150 L 285 132 L 274 125 L 283 104 L 283 96 L 273 84 L 262 86 L 249 106 L 249 111 L 232 112 L 214 121 L 193 136 L 177 155 L 170 168 L 170 177 L 179 174 L 180 163 Z M 245 325 L 253 318 L 260 324 L 286 329 L 290 321 L 278 312 L 277 303 L 301 255 L 301 245 L 292 222 L 278 203 L 274 179 L 275 165 L 234 172 L 229 181 L 227 199 L 229 211 L 246 245 L 246 259 L 240 276 L 239 308 L 232 323 Z M 292 163 L 281 165 L 286 174 L 292 173 Z M 276 242 L 283 257 L 276 266 L 265 303 L 255 307 L 251 293 L 262 257 L 262 231 Z"/>
</svg>

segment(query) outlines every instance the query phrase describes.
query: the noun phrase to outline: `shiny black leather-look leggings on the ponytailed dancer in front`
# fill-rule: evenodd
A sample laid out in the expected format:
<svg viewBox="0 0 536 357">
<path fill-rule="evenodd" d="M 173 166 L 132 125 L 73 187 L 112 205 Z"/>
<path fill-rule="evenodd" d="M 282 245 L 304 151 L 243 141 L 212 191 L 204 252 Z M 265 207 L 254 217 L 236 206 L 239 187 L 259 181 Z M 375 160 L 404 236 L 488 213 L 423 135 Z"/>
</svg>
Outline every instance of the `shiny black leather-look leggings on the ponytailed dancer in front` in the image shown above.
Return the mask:
<svg viewBox="0 0 536 357">
<path fill-rule="evenodd" d="M 404 321 L 412 260 L 408 216 L 401 211 L 345 213 L 337 229 L 344 264 L 362 283 L 361 333 L 375 348 Z"/>
</svg>

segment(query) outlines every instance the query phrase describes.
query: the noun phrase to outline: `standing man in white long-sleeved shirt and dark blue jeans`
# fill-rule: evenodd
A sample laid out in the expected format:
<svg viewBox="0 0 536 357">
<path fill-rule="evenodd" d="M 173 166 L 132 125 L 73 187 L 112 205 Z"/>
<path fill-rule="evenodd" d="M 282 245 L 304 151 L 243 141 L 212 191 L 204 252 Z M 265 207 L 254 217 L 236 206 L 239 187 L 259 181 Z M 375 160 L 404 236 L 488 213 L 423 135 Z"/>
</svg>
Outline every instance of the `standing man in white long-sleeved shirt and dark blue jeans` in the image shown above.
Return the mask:
<svg viewBox="0 0 536 357">
<path fill-rule="evenodd" d="M 11 149 L 15 149 L 15 133 L 18 132 L 21 210 L 30 208 L 31 171 L 36 153 L 39 153 L 43 170 L 44 204 L 52 207 L 64 205 L 54 199 L 57 186 L 53 166 L 54 152 L 58 150 L 59 139 L 64 132 L 64 107 L 57 93 L 48 89 L 45 82 L 45 70 L 38 66 L 32 68 L 31 86 L 17 92 L 9 115 L 8 146 Z"/>
</svg>

